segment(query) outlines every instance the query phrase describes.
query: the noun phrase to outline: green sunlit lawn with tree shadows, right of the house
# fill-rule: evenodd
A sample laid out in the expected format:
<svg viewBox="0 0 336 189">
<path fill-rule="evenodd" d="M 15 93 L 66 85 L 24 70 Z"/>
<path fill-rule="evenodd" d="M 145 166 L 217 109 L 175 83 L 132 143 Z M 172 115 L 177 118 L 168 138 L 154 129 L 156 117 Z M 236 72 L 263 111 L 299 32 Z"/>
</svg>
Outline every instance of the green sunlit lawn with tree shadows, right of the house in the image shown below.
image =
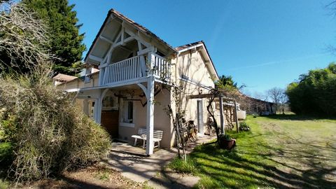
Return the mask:
<svg viewBox="0 0 336 189">
<path fill-rule="evenodd" d="M 197 188 L 335 188 L 336 120 L 295 115 L 253 118 L 251 132 L 230 133 L 237 148 L 197 146 L 188 165 L 169 167 L 200 176 Z"/>
</svg>

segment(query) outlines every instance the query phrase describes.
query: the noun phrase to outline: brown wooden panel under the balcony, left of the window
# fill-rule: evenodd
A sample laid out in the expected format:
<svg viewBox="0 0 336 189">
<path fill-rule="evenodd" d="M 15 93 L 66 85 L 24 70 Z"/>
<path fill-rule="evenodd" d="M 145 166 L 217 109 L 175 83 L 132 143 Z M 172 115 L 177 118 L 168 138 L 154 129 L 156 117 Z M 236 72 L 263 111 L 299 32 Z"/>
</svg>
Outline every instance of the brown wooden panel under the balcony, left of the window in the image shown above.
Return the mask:
<svg viewBox="0 0 336 189">
<path fill-rule="evenodd" d="M 102 126 L 112 138 L 118 138 L 119 111 L 102 111 Z"/>
</svg>

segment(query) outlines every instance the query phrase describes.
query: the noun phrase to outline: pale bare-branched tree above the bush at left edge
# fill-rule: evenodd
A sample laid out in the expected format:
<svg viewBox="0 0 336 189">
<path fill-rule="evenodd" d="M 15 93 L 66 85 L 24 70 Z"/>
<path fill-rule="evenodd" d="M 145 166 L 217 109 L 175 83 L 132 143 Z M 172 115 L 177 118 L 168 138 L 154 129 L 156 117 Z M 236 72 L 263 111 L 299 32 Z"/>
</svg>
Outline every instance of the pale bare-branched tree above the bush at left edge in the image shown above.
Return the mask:
<svg viewBox="0 0 336 189">
<path fill-rule="evenodd" d="M 31 66 L 50 62 L 47 30 L 21 3 L 0 10 L 0 71 L 27 72 Z"/>
</svg>

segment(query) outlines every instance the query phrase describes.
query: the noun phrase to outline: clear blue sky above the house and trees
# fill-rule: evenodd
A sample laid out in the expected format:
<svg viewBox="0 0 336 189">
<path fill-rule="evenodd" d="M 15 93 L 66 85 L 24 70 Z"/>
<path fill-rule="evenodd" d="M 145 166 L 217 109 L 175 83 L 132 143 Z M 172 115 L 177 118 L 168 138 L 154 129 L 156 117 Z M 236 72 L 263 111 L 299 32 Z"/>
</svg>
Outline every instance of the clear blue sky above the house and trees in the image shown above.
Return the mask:
<svg viewBox="0 0 336 189">
<path fill-rule="evenodd" d="M 174 47 L 203 40 L 218 73 L 244 83 L 252 95 L 284 88 L 336 59 L 328 50 L 336 46 L 328 0 L 69 2 L 76 4 L 87 49 L 114 8 Z"/>
</svg>

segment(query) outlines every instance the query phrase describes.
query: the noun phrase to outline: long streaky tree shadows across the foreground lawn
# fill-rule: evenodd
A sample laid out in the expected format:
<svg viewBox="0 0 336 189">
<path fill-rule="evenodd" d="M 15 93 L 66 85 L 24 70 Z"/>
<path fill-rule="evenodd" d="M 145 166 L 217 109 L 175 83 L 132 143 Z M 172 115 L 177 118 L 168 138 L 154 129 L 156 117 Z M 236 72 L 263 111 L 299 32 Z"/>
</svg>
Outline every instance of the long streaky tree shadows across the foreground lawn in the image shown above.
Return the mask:
<svg viewBox="0 0 336 189">
<path fill-rule="evenodd" d="M 249 154 L 252 155 L 252 154 Z M 260 154 L 257 154 L 260 155 Z M 311 162 L 309 169 L 290 167 L 286 163 L 276 161 L 272 154 L 261 155 L 276 165 L 283 165 L 295 172 L 284 172 L 272 164 L 253 158 L 244 158 L 237 152 L 218 150 L 214 145 L 197 148 L 191 157 L 196 160 L 195 166 L 201 174 L 208 174 L 214 183 L 208 183 L 206 188 L 248 188 L 253 186 L 275 188 L 335 188 L 336 183 L 325 179 L 325 175 L 335 175 L 336 168 L 325 169 Z M 307 155 L 309 157 L 309 155 Z M 210 163 L 208 163 L 210 162 Z M 224 165 L 224 166 L 223 166 Z M 228 178 L 235 180 L 231 184 Z"/>
</svg>

